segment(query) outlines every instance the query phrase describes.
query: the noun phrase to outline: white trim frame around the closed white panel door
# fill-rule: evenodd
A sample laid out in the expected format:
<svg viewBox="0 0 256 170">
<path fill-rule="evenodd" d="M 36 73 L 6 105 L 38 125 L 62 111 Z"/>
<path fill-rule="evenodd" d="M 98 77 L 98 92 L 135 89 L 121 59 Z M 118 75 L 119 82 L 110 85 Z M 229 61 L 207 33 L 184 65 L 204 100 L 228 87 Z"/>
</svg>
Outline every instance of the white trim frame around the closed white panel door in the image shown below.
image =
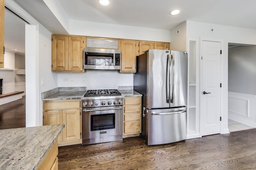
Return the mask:
<svg viewBox="0 0 256 170">
<path fill-rule="evenodd" d="M 202 137 L 201 133 L 201 121 L 202 121 L 202 44 L 203 41 L 213 41 L 213 42 L 218 42 L 220 43 L 221 50 L 222 50 L 222 55 L 220 55 L 220 82 L 223 82 L 223 40 L 222 39 L 213 39 L 213 38 L 207 38 L 207 37 L 200 37 L 200 137 Z M 223 83 L 222 83 L 223 86 Z M 226 84 L 228 86 L 228 84 Z M 222 117 L 223 115 L 223 106 L 222 106 L 222 100 L 223 100 L 223 88 L 220 88 L 220 116 Z M 220 122 L 220 133 L 222 132 L 222 127 L 223 127 L 223 121 Z"/>
</svg>

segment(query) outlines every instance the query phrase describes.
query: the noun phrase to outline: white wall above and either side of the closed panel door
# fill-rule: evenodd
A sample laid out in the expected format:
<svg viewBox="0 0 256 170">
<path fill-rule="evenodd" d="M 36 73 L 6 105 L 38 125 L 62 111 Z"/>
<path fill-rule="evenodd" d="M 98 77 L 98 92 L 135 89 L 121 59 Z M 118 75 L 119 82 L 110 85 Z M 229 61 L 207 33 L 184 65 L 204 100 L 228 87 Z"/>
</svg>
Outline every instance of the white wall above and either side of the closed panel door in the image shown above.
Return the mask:
<svg viewBox="0 0 256 170">
<path fill-rule="evenodd" d="M 214 31 L 210 31 L 213 29 Z M 187 39 L 201 39 L 222 42 L 222 96 L 221 96 L 221 133 L 228 132 L 228 43 L 256 44 L 256 29 L 231 27 L 211 23 L 187 21 Z M 198 51 L 200 51 L 200 43 Z M 200 55 L 197 56 L 197 84 L 200 85 Z M 200 92 L 200 87 L 198 87 Z M 201 93 L 200 93 L 201 94 Z M 198 95 L 200 95 L 198 94 Z M 197 103 L 200 101 L 197 101 Z"/>
</svg>

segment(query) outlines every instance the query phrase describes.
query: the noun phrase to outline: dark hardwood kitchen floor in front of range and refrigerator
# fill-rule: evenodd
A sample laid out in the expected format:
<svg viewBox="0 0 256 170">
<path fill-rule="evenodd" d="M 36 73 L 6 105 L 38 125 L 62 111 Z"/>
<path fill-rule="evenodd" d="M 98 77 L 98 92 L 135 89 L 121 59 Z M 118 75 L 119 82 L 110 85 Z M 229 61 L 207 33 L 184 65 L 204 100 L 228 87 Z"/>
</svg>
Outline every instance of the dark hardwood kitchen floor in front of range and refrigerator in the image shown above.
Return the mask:
<svg viewBox="0 0 256 170">
<path fill-rule="evenodd" d="M 256 129 L 147 146 L 140 137 L 59 147 L 59 170 L 256 169 Z"/>
</svg>

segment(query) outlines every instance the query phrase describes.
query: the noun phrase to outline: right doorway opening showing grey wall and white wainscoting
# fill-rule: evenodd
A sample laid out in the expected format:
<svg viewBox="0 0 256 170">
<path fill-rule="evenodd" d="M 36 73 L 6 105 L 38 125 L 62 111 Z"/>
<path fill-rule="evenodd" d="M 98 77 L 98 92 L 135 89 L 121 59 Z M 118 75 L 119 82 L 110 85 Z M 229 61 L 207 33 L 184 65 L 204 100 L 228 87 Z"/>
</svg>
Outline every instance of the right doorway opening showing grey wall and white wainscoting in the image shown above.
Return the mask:
<svg viewBox="0 0 256 170">
<path fill-rule="evenodd" d="M 228 43 L 228 128 L 256 127 L 256 45 Z"/>
</svg>

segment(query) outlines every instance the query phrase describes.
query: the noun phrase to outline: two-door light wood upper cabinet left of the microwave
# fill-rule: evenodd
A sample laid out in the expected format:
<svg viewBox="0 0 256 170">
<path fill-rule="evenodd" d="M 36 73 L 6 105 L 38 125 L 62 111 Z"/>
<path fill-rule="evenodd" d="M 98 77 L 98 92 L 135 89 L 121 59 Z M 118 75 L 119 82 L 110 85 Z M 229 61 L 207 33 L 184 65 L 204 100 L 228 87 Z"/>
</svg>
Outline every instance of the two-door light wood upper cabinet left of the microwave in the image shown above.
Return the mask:
<svg viewBox="0 0 256 170">
<path fill-rule="evenodd" d="M 52 35 L 52 71 L 84 72 L 83 36 Z"/>
</svg>

